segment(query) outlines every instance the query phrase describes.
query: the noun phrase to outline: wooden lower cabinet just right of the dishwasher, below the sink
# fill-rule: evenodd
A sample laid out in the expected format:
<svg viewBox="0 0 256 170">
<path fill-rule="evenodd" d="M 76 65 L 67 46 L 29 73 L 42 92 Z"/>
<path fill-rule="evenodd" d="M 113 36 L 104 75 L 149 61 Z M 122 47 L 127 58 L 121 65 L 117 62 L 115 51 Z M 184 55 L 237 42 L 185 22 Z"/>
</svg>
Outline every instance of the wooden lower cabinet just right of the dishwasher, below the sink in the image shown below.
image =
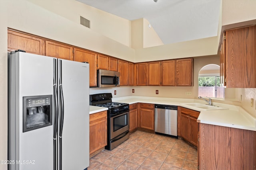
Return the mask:
<svg viewBox="0 0 256 170">
<path fill-rule="evenodd" d="M 178 111 L 178 135 L 193 144 L 198 146 L 198 131 L 199 124 L 196 122 L 200 112 L 180 107 Z"/>
</svg>

